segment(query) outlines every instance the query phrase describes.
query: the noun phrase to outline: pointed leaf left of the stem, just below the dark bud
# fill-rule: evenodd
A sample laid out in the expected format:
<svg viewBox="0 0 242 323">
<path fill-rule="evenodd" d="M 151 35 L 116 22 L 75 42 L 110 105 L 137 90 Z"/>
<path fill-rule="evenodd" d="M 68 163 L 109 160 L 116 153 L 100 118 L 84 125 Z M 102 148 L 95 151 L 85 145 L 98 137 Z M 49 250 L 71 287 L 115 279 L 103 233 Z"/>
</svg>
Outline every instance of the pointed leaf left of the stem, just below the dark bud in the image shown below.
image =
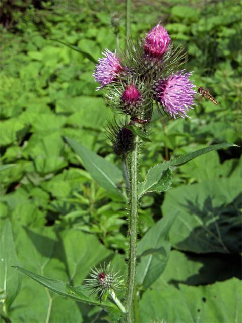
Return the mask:
<svg viewBox="0 0 242 323">
<path fill-rule="evenodd" d="M 82 158 L 85 169 L 110 193 L 121 196 L 118 183 L 122 180 L 122 172 L 113 164 L 96 153 L 88 150 L 73 139 L 65 137 L 72 149 Z"/>
</svg>

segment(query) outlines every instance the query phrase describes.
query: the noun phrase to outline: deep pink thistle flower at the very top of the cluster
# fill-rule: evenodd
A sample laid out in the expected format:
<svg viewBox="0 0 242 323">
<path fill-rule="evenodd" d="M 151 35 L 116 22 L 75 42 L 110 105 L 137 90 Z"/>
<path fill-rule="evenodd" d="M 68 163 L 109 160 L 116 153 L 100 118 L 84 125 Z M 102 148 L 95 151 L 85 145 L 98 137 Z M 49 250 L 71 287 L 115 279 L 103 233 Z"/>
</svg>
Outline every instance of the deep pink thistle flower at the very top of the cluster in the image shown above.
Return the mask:
<svg viewBox="0 0 242 323">
<path fill-rule="evenodd" d="M 170 37 L 167 30 L 158 24 L 146 34 L 145 53 L 153 57 L 159 57 L 166 52 L 169 43 Z"/>
</svg>

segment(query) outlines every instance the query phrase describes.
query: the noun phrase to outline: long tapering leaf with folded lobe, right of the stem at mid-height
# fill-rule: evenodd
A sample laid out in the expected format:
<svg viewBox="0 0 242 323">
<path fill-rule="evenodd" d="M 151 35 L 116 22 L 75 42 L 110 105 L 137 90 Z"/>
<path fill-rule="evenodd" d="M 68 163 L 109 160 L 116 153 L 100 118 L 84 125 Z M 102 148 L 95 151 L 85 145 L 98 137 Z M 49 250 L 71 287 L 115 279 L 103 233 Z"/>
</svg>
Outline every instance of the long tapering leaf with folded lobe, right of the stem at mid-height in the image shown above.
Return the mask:
<svg viewBox="0 0 242 323">
<path fill-rule="evenodd" d="M 178 158 L 174 158 L 170 161 L 164 161 L 163 163 L 157 164 L 151 169 L 149 169 L 145 180 L 139 184 L 138 187 L 138 194 L 139 197 L 146 193 L 150 192 L 163 192 L 167 190 L 171 184 L 171 180 L 169 178 L 169 172 L 165 173 L 168 168 L 170 170 L 174 170 L 175 168 L 184 165 L 188 163 L 188 161 L 203 155 L 207 152 L 218 150 L 222 148 L 228 148 L 228 147 L 237 147 L 237 145 L 234 145 L 232 143 L 221 143 L 217 145 L 212 145 L 210 147 L 202 148 L 197 151 L 188 153 L 184 156 L 180 156 Z"/>
</svg>

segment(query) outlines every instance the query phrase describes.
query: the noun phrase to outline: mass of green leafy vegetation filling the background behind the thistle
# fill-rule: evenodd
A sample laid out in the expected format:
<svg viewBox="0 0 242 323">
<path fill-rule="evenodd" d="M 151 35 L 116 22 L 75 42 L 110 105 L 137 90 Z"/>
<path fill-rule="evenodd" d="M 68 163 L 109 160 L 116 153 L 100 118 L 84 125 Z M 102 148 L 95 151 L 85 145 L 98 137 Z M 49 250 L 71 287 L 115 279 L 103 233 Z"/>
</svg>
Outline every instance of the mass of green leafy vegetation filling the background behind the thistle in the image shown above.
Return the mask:
<svg viewBox="0 0 242 323">
<path fill-rule="evenodd" d="M 142 149 L 140 180 L 158 161 L 195 148 L 241 145 L 240 11 L 236 0 L 133 2 L 132 35 L 161 21 L 186 47 L 195 84 L 219 102 L 202 99 L 190 119 L 157 122 Z M 10 220 L 19 263 L 41 275 L 78 285 L 101 261 L 124 271 L 126 205 L 92 179 L 63 140 L 73 138 L 121 169 L 105 138 L 112 112 L 92 71 L 101 51 L 124 47 L 124 2 L 4 0 L 0 12 L 0 164 L 15 164 L 0 173 L 0 226 Z M 180 213 L 164 273 L 143 282 L 149 288 L 141 290 L 140 321 L 239 322 L 240 149 L 212 151 L 174 173 L 166 193 L 141 204 L 140 238 L 173 209 Z M 28 278 L 18 291 L 0 321 L 108 321 L 99 307 Z"/>
</svg>

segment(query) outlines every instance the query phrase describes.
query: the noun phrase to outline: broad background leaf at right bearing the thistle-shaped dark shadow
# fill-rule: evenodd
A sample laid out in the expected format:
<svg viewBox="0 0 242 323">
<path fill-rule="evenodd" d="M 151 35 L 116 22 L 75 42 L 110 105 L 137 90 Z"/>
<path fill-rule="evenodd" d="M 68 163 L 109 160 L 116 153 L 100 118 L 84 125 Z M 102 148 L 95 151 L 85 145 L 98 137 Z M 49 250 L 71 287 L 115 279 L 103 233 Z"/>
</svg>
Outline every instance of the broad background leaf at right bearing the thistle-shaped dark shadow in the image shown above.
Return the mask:
<svg viewBox="0 0 242 323">
<path fill-rule="evenodd" d="M 241 250 L 241 179 L 218 178 L 170 189 L 162 205 L 180 213 L 171 228 L 171 245 L 196 253 Z"/>
</svg>

